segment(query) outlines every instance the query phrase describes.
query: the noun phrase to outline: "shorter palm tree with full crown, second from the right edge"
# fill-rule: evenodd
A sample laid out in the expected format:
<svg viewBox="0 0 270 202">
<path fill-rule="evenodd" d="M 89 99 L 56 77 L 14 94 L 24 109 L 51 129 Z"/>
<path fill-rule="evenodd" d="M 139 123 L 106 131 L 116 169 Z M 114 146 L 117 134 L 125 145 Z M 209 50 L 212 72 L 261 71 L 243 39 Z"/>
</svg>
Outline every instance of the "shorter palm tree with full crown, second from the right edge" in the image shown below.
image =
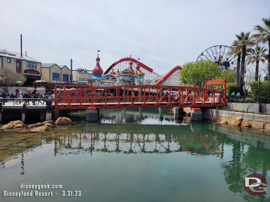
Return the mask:
<svg viewBox="0 0 270 202">
<path fill-rule="evenodd" d="M 255 49 L 251 48 L 247 57 L 247 64 L 253 64 L 256 62 L 256 69 L 255 69 L 255 81 L 258 81 L 258 75 L 259 75 L 259 62 L 265 62 L 265 59 L 267 58 L 266 51 L 268 49 L 261 46 L 256 46 Z"/>
</svg>

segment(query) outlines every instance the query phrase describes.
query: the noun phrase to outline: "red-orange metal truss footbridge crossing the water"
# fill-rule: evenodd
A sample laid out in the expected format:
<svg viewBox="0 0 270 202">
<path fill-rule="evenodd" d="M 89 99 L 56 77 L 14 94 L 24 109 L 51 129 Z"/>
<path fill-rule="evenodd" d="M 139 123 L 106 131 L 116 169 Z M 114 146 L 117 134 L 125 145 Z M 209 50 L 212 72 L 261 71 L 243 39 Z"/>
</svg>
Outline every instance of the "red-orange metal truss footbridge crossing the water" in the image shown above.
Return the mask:
<svg viewBox="0 0 270 202">
<path fill-rule="evenodd" d="M 226 106 L 226 79 L 206 81 L 204 85 L 180 86 L 55 84 L 55 109 L 206 106 Z"/>
</svg>

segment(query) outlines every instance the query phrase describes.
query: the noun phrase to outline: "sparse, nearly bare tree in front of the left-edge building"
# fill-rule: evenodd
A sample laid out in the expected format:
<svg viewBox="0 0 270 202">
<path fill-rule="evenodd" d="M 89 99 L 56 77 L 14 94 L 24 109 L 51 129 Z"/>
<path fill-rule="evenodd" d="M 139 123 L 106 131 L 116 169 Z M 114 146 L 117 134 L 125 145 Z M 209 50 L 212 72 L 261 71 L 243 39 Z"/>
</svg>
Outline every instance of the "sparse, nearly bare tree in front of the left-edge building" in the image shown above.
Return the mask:
<svg viewBox="0 0 270 202">
<path fill-rule="evenodd" d="M 3 75 L 4 79 L 0 80 L 0 87 L 4 92 L 8 91 L 11 87 L 18 85 L 17 81 L 21 81 L 22 84 L 26 81 L 24 75 L 19 74 L 12 69 L 7 67 L 0 68 L 0 74 Z"/>
</svg>

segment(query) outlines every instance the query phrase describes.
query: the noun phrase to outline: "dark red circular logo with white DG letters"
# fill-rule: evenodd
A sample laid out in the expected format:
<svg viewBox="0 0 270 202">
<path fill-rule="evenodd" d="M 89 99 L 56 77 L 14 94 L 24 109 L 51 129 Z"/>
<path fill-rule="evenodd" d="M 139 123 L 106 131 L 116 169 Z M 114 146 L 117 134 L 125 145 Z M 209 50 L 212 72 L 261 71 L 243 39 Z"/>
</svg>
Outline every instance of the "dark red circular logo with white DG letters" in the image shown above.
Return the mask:
<svg viewBox="0 0 270 202">
<path fill-rule="evenodd" d="M 266 179 L 259 173 L 252 173 L 245 178 L 245 190 L 252 196 L 259 196 L 266 191 Z"/>
</svg>

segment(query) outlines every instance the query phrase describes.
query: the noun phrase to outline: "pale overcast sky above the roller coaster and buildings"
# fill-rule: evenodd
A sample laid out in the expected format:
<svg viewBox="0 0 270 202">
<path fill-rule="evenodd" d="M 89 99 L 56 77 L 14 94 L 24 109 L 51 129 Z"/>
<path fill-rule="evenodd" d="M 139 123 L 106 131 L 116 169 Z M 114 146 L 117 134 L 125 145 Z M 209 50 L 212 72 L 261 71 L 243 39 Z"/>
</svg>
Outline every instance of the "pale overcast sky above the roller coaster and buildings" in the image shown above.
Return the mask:
<svg viewBox="0 0 270 202">
<path fill-rule="evenodd" d="M 42 63 L 103 71 L 130 55 L 166 74 L 268 18 L 270 1 L 2 1 L 0 48 Z M 252 31 L 252 33 L 255 33 Z M 77 65 L 79 64 L 79 65 Z"/>
</svg>

